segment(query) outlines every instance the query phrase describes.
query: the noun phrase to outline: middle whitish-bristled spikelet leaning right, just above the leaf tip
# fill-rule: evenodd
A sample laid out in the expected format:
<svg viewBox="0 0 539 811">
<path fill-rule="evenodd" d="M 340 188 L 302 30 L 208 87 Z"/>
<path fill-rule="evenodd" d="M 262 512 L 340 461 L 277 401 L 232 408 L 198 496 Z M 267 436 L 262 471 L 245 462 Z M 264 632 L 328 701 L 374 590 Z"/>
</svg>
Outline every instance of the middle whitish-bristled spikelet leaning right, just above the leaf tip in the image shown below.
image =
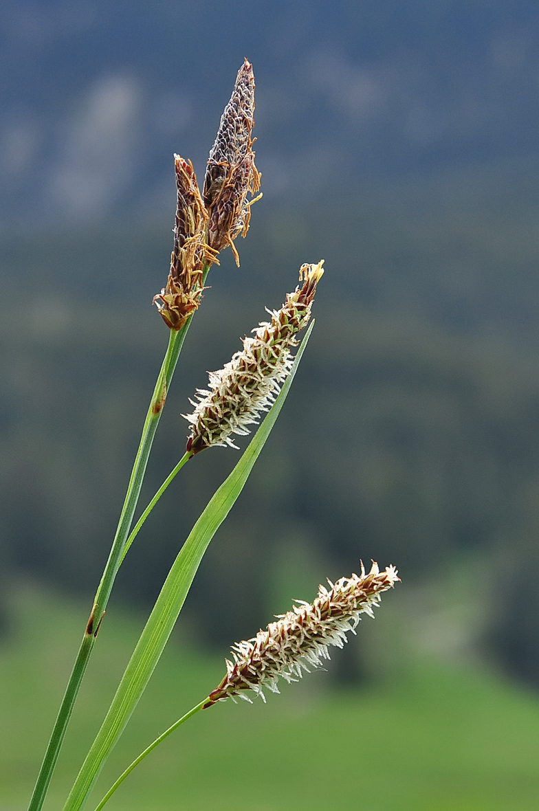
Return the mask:
<svg viewBox="0 0 539 811">
<path fill-rule="evenodd" d="M 192 414 L 183 414 L 192 423 L 187 450 L 199 453 L 210 445 L 236 445 L 231 434 L 245 436 L 248 425 L 258 422 L 261 411 L 274 402 L 283 380 L 290 374 L 291 349 L 295 336 L 307 324 L 317 282 L 324 260 L 300 268 L 301 287 L 287 294 L 280 310 L 268 312 L 270 322 L 253 329 L 254 337 L 243 340 L 244 349 L 236 352 L 223 369 L 209 373 L 209 390 L 197 389 L 198 402 Z"/>
</svg>

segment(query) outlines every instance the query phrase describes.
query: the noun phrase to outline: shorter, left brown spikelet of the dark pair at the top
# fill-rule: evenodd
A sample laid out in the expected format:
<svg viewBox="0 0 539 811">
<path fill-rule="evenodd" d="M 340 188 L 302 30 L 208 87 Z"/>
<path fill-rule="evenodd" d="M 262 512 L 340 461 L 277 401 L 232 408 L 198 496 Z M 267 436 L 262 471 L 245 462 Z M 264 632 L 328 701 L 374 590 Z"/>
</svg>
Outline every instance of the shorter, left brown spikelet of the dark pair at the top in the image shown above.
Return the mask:
<svg viewBox="0 0 539 811">
<path fill-rule="evenodd" d="M 205 264 L 216 262 L 216 251 L 205 242 L 208 213 L 196 183 L 191 161 L 175 155 L 178 203 L 174 227 L 174 248 L 166 288 L 153 298 L 170 329 L 183 327 L 201 303 Z"/>
</svg>

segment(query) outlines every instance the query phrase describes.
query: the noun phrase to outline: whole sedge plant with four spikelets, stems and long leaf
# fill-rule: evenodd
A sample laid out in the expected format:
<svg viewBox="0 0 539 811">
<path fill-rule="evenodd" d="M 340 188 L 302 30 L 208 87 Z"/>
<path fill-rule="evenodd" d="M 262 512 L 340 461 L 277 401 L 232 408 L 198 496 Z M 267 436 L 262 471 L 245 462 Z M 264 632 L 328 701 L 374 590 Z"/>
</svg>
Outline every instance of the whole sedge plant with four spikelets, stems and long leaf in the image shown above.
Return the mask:
<svg viewBox="0 0 539 811">
<path fill-rule="evenodd" d="M 234 470 L 209 500 L 170 568 L 106 717 L 75 778 L 64 811 L 78 811 L 84 806 L 106 758 L 144 693 L 202 556 L 244 487 L 282 409 L 313 329 L 313 299 L 324 273 L 323 260 L 301 266 L 299 281 L 295 289 L 286 294 L 282 306 L 278 310 L 267 310 L 269 320 L 261 321 L 250 336 L 244 337 L 242 348 L 229 363 L 221 370 L 209 373 L 207 388 L 196 390 L 191 401 L 192 412 L 183 415 L 189 423 L 185 453 L 133 526 L 153 437 L 166 405 L 166 395 L 189 324 L 203 303 L 206 278 L 210 268 L 219 264 L 220 252 L 226 247 L 231 248 L 239 265 L 235 241 L 240 234 L 243 237 L 247 234 L 251 206 L 261 197 L 261 174 L 255 165 L 252 148 L 254 109 L 254 76 L 252 65 L 246 59 L 222 114 L 202 187 L 197 182 L 191 161 L 175 155 L 177 205 L 170 270 L 166 285 L 153 298 L 168 328 L 168 345 L 144 420 L 110 555 L 28 811 L 40 811 L 45 800 L 80 684 L 101 629 L 114 578 L 140 527 L 166 487 L 192 457 L 214 445 L 237 449 L 235 438 L 253 432 Z M 300 343 L 298 336 L 305 328 L 307 331 Z M 312 604 L 296 604 L 256 637 L 236 644 L 232 649 L 232 659 L 226 661 L 226 676 L 221 684 L 144 749 L 97 808 L 105 805 L 123 779 L 157 744 L 192 715 L 229 697 L 250 700 L 248 694 L 251 693 L 264 698 L 264 689 L 278 692 L 280 677 L 294 681 L 309 669 L 318 667 L 322 659 L 329 658 L 328 648 L 342 647 L 347 633 L 355 633 L 360 615 L 372 615 L 380 594 L 394 586 L 398 579 L 392 566 L 381 572 L 377 564 L 373 564 L 370 572 L 365 573 L 361 565 L 359 576 L 352 574 L 330 583 L 329 590 L 320 586 Z"/>
</svg>

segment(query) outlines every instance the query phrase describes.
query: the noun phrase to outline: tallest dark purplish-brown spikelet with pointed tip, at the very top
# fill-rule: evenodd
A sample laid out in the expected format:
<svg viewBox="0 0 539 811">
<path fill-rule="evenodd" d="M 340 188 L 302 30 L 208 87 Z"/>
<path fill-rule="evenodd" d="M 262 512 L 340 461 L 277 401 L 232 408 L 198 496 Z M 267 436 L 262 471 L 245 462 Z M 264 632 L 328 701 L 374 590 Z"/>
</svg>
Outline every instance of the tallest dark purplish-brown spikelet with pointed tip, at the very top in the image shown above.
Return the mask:
<svg viewBox="0 0 539 811">
<path fill-rule="evenodd" d="M 247 234 L 251 204 L 247 200 L 260 189 L 261 175 L 255 166 L 251 132 L 254 126 L 255 80 L 252 65 L 245 60 L 226 105 L 218 134 L 209 152 L 204 180 L 204 201 L 209 212 L 208 243 L 215 251 L 227 245 L 239 255 L 234 240 Z"/>
</svg>

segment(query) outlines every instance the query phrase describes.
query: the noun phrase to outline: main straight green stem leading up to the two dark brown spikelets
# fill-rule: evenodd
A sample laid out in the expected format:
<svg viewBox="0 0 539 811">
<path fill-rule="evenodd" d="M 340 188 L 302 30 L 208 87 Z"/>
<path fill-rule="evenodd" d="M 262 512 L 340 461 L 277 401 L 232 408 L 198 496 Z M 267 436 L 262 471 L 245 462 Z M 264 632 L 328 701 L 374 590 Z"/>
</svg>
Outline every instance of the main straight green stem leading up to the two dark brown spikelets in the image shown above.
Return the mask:
<svg viewBox="0 0 539 811">
<path fill-rule="evenodd" d="M 208 271 L 209 266 L 206 265 L 203 275 L 203 283 L 208 275 Z M 133 465 L 131 478 L 129 479 L 127 494 L 123 503 L 122 513 L 120 514 L 118 528 L 114 536 L 114 542 L 110 549 L 109 560 L 106 562 L 106 567 L 103 572 L 103 576 L 101 577 L 101 583 L 99 584 L 93 601 L 93 608 L 88 619 L 84 637 L 80 643 L 79 652 L 77 654 L 77 658 L 75 659 L 71 676 L 67 682 L 66 692 L 63 695 L 62 704 L 58 710 L 58 716 L 54 723 L 54 728 L 45 752 L 45 757 L 43 758 L 43 762 L 41 764 L 39 775 L 37 775 L 37 782 L 32 793 L 30 805 L 28 805 L 28 811 L 41 811 L 41 807 L 45 801 L 45 795 L 49 788 L 50 779 L 52 778 L 54 767 L 56 766 L 56 762 L 58 760 L 58 754 L 60 753 L 63 739 L 66 735 L 67 724 L 71 719 L 71 713 L 80 690 L 80 684 L 84 678 L 84 672 L 86 672 L 86 667 L 88 666 L 88 661 L 96 641 L 97 631 L 99 630 L 101 620 L 105 614 L 106 604 L 109 601 L 110 591 L 112 590 L 112 586 L 114 584 L 114 578 L 116 577 L 119 565 L 123 560 L 123 549 L 127 541 L 127 534 L 129 533 L 129 528 L 132 525 L 133 514 L 135 513 L 136 504 L 140 496 L 140 488 L 142 487 L 149 453 L 152 448 L 153 437 L 157 431 L 157 425 L 159 424 L 162 409 L 165 405 L 166 393 L 170 386 L 170 380 L 172 380 L 172 375 L 174 374 L 179 353 L 188 332 L 189 324 L 191 324 L 191 319 L 192 316 L 188 320 L 187 324 L 185 324 L 183 328 L 179 329 L 177 332 L 170 330 L 169 333 L 169 344 L 166 349 L 165 358 L 163 359 L 161 371 L 157 377 L 157 383 L 153 390 L 153 396 L 149 404 L 148 414 L 146 414 L 146 419 L 144 420 L 140 445 L 136 452 L 135 463 Z M 131 543 L 131 541 L 128 543 Z"/>
</svg>

